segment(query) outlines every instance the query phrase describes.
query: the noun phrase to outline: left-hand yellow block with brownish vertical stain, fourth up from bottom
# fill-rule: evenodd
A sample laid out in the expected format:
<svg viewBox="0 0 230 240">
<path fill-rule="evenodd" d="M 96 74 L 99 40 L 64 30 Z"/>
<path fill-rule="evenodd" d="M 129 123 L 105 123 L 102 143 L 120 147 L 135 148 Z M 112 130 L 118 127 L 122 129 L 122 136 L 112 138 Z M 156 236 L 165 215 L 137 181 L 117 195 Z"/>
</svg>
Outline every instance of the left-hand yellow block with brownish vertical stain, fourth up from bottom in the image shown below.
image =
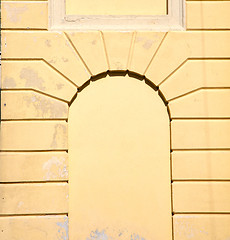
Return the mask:
<svg viewBox="0 0 230 240">
<path fill-rule="evenodd" d="M 65 121 L 10 121 L 1 123 L 0 150 L 66 150 Z"/>
</svg>

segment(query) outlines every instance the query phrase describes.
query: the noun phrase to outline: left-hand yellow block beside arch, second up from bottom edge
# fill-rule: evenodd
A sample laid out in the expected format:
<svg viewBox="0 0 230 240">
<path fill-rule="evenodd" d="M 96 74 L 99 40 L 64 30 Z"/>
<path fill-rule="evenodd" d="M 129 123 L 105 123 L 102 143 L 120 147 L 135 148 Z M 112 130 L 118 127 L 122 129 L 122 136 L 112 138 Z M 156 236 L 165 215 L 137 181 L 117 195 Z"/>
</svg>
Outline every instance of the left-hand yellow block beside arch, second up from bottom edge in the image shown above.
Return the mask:
<svg viewBox="0 0 230 240">
<path fill-rule="evenodd" d="M 67 183 L 0 184 L 0 214 L 68 212 Z"/>
</svg>

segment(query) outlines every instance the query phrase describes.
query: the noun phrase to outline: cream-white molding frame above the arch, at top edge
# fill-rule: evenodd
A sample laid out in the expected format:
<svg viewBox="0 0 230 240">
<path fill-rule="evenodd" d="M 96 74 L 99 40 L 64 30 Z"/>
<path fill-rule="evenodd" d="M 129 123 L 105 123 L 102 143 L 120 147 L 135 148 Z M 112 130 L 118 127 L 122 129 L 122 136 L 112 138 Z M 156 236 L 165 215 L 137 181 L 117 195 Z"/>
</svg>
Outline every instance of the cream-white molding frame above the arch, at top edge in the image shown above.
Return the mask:
<svg viewBox="0 0 230 240">
<path fill-rule="evenodd" d="M 168 15 L 66 15 L 65 0 L 49 0 L 50 30 L 185 30 L 185 0 L 168 0 Z"/>
</svg>

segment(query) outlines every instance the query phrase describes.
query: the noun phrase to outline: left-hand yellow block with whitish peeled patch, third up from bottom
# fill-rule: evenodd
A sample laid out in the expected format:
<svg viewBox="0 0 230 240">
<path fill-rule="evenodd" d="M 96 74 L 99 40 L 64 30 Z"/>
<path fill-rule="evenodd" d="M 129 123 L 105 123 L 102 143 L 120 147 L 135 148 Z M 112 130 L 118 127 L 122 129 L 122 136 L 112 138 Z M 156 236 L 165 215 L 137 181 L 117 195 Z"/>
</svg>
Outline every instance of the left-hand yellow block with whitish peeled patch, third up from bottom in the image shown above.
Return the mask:
<svg viewBox="0 0 230 240">
<path fill-rule="evenodd" d="M 68 180 L 66 152 L 0 153 L 0 182 Z"/>
</svg>

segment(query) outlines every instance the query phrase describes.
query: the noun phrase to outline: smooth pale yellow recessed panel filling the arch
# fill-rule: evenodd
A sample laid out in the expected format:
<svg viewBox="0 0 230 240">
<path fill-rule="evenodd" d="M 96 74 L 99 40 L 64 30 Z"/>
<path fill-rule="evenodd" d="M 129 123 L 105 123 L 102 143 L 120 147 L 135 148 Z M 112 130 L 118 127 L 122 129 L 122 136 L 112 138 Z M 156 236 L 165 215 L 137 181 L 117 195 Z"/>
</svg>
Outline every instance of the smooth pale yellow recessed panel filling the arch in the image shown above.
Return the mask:
<svg viewBox="0 0 230 240">
<path fill-rule="evenodd" d="M 170 240 L 170 130 L 158 93 L 91 82 L 69 113 L 70 240 Z"/>
</svg>

